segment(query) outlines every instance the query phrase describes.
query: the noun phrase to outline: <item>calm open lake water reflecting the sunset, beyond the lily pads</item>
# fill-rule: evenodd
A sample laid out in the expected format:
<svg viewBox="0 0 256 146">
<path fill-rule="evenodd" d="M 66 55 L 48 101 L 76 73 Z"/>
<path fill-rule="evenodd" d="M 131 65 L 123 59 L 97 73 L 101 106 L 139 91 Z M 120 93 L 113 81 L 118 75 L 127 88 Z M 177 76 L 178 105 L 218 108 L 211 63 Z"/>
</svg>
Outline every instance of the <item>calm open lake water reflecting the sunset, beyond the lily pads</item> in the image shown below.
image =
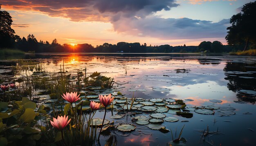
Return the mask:
<svg viewBox="0 0 256 146">
<path fill-rule="evenodd" d="M 232 107 L 234 115 L 225 115 L 216 111 L 214 115 L 202 115 L 193 112 L 192 118 L 166 114 L 179 119 L 178 122 L 164 122 L 162 125 L 179 135 L 185 124 L 182 137 L 188 146 L 210 145 L 206 141 L 219 146 L 256 145 L 256 57 L 251 56 L 215 56 L 201 54 L 40 54 L 24 55 L 17 58 L 32 59 L 42 63 L 46 71 L 56 71 L 60 65 L 74 75 L 76 71 L 87 73 L 101 72 L 107 77 L 114 77 L 114 88 L 126 97 L 191 99 L 185 101 L 189 107 L 214 105 Z M 11 80 L 11 65 L 16 65 L 17 58 L 0 60 L 1 79 Z M 177 69 L 185 69 L 177 71 Z M 9 73 L 8 73 L 9 72 Z M 213 103 L 209 100 L 221 100 Z M 249 112 L 250 114 L 245 114 Z M 111 112 L 107 113 L 107 119 Z M 221 116 L 222 115 L 222 116 Z M 149 115 L 148 115 L 149 116 Z M 97 112 L 95 117 L 103 117 Z M 132 123 L 131 117 L 115 120 L 115 123 Z M 181 122 L 189 120 L 189 122 Z M 217 122 L 214 122 L 214 121 Z M 137 125 L 137 124 L 135 124 Z M 202 132 L 209 126 L 209 131 L 219 131 L 219 135 L 211 135 L 202 142 Z M 110 133 L 108 133 L 110 134 Z M 101 137 L 104 145 L 110 135 Z M 132 133 L 111 133 L 117 145 L 165 146 L 171 141 L 171 132 L 161 133 L 147 127 L 137 125 Z M 126 136 L 128 135 L 128 136 Z"/>
</svg>

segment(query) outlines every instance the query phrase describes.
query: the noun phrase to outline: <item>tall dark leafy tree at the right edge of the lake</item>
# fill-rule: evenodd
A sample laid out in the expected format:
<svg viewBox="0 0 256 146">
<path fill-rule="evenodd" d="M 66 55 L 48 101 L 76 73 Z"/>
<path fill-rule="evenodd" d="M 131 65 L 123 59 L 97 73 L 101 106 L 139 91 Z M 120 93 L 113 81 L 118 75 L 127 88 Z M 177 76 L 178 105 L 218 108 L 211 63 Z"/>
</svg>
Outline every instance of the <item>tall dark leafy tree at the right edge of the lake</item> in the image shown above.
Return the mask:
<svg viewBox="0 0 256 146">
<path fill-rule="evenodd" d="M 250 45 L 251 48 L 256 46 L 256 1 L 245 4 L 242 12 L 233 15 L 230 19 L 231 27 L 226 36 L 230 45 L 245 44 L 244 51 Z"/>
</svg>

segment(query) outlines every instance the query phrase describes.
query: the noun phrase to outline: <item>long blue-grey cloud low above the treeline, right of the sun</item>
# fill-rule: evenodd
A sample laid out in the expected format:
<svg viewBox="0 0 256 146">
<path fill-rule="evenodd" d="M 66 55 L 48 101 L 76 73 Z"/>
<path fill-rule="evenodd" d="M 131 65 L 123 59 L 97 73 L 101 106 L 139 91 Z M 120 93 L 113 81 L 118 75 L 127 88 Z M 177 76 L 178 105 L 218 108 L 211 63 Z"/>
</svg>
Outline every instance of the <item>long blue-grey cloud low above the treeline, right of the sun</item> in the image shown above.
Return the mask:
<svg viewBox="0 0 256 146">
<path fill-rule="evenodd" d="M 122 19 L 113 22 L 114 30 L 137 36 L 167 39 L 223 38 L 229 19 L 213 23 L 189 18 L 159 18 L 149 16 L 144 19 Z"/>
</svg>

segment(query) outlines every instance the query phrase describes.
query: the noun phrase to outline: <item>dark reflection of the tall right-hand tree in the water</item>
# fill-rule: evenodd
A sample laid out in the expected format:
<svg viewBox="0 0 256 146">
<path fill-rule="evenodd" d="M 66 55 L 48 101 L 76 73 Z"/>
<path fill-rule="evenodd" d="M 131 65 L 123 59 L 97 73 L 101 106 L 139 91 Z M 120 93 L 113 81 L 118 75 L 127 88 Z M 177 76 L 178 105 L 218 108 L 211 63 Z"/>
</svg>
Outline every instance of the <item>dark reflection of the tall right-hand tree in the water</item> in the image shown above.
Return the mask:
<svg viewBox="0 0 256 146">
<path fill-rule="evenodd" d="M 249 67 L 251 66 L 251 67 Z M 246 93 L 239 93 L 240 90 L 252 90 L 256 91 L 256 63 L 246 64 L 242 62 L 227 62 L 224 71 L 227 71 L 225 80 L 229 80 L 227 88 L 237 93 L 239 100 L 255 103 L 256 96 L 249 95 Z M 252 72 L 250 72 L 252 71 Z M 244 73 L 241 73 L 244 72 Z M 254 78 L 243 78 L 243 77 L 254 77 Z"/>
</svg>

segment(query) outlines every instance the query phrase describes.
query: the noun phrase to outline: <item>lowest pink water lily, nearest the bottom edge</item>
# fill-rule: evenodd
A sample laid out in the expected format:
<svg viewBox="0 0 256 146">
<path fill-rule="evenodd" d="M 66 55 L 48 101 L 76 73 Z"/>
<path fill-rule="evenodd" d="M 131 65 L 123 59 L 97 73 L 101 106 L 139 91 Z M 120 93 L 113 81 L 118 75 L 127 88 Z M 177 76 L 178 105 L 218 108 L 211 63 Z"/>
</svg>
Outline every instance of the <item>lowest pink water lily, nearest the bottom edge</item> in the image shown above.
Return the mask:
<svg viewBox="0 0 256 146">
<path fill-rule="evenodd" d="M 57 119 L 53 118 L 53 121 L 50 121 L 50 122 L 51 122 L 51 125 L 54 128 L 58 129 L 59 131 L 62 131 L 65 128 L 65 126 L 67 126 L 67 124 L 70 123 L 70 121 L 71 121 L 71 119 L 68 120 L 66 115 L 64 115 L 64 117 L 63 116 L 61 116 L 61 117 L 58 116 Z"/>
</svg>

